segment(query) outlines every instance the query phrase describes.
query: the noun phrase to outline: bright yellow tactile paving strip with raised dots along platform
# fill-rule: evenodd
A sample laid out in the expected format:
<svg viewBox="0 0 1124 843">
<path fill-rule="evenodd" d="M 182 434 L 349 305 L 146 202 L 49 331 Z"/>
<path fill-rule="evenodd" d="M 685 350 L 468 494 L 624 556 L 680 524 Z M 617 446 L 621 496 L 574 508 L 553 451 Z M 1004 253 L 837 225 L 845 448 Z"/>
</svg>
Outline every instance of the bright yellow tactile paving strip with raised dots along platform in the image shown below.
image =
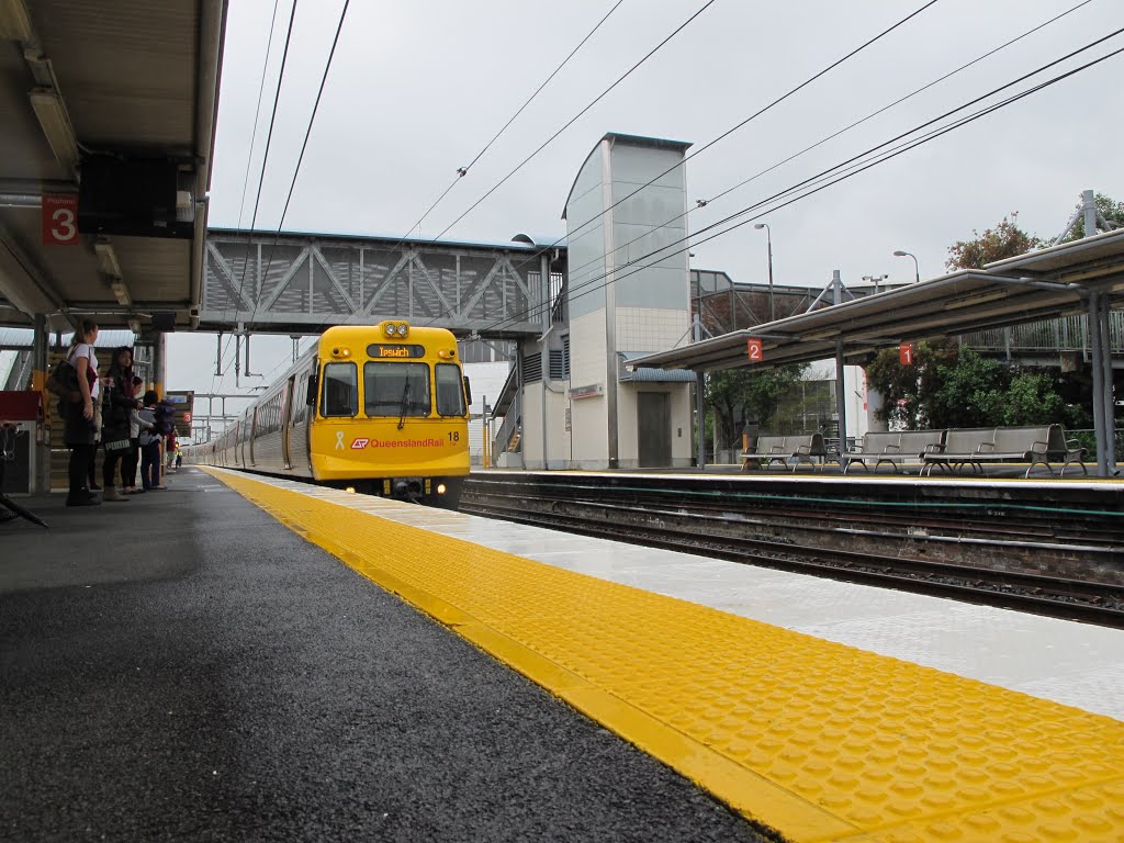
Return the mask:
<svg viewBox="0 0 1124 843">
<path fill-rule="evenodd" d="M 214 473 L 787 840 L 1124 840 L 1111 717 Z"/>
</svg>

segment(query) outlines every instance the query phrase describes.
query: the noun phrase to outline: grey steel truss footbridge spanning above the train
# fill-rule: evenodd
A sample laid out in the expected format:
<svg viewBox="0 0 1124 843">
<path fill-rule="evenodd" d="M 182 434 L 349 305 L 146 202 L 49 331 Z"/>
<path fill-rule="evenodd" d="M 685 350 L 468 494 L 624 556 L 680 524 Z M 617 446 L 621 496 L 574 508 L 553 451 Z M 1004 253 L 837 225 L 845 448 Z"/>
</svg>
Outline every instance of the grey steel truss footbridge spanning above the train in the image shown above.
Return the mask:
<svg viewBox="0 0 1124 843">
<path fill-rule="evenodd" d="M 524 241 L 529 238 L 520 235 Z M 565 250 L 211 228 L 202 330 L 312 333 L 409 319 L 459 336 L 542 334 Z"/>
</svg>

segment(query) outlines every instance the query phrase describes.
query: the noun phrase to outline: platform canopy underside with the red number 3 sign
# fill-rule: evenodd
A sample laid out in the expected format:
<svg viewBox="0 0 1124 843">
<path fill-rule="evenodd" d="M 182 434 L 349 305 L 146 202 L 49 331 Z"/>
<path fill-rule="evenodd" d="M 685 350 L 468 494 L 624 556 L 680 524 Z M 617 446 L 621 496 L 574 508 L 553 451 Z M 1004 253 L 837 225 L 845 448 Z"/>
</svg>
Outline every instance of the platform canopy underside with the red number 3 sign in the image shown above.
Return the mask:
<svg viewBox="0 0 1124 843">
<path fill-rule="evenodd" d="M 120 327 L 192 324 L 226 8 L 0 0 L 0 325 L 36 315 L 62 330 L 81 315 Z M 145 174 L 171 173 L 173 198 L 155 203 L 163 218 L 136 215 L 156 227 L 173 217 L 169 230 L 76 232 L 80 182 L 89 190 L 94 170 L 102 212 L 121 210 L 115 197 L 144 196 Z M 119 172 L 134 178 L 123 183 Z"/>
</svg>

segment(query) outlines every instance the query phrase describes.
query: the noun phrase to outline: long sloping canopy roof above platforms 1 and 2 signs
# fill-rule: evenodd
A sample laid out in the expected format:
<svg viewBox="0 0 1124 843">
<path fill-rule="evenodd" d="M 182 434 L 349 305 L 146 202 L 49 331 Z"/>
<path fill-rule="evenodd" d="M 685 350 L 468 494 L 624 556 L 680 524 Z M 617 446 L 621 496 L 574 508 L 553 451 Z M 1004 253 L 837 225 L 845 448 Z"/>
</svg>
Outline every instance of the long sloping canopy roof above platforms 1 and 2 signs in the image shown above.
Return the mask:
<svg viewBox="0 0 1124 843">
<path fill-rule="evenodd" d="M 708 371 L 833 357 L 865 362 L 903 342 L 957 336 L 1088 310 L 1090 291 L 1124 307 L 1124 232 L 1109 232 L 628 361 Z M 747 354 L 760 339 L 760 362 Z"/>
</svg>

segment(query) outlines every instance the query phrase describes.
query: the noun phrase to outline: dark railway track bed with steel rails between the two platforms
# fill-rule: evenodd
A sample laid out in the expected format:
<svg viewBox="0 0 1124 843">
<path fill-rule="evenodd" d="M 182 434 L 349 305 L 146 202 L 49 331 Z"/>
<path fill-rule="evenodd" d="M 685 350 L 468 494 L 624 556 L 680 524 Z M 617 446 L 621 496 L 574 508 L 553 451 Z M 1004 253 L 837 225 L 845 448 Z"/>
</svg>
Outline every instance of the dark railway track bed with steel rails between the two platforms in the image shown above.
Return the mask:
<svg viewBox="0 0 1124 843">
<path fill-rule="evenodd" d="M 590 496 L 598 497 L 598 496 Z M 653 506 L 651 500 L 562 499 L 554 495 L 501 492 L 470 486 L 461 500 L 461 510 L 520 524 L 549 527 L 569 533 L 698 555 L 726 559 L 745 564 L 808 573 L 832 579 L 896 588 L 917 593 L 946 597 L 1051 617 L 1081 620 L 1124 628 L 1124 586 L 1090 582 L 1087 579 L 998 570 L 949 561 L 826 547 L 816 543 L 786 541 L 761 525 L 710 506 Z M 805 510 L 803 517 L 807 519 Z M 896 531 L 900 518 L 887 524 L 870 519 L 849 528 L 867 533 Z M 914 529 L 927 529 L 908 524 Z M 1012 524 L 987 534 L 975 531 L 973 541 L 1030 545 L 1041 553 L 1066 551 L 1085 555 L 1118 555 L 1109 536 L 1095 535 L 1091 543 L 1066 544 L 1046 535 L 1041 525 L 1019 533 Z M 837 519 L 827 519 L 818 529 L 839 529 Z M 1086 538 L 1082 536 L 1082 540 Z"/>
</svg>

